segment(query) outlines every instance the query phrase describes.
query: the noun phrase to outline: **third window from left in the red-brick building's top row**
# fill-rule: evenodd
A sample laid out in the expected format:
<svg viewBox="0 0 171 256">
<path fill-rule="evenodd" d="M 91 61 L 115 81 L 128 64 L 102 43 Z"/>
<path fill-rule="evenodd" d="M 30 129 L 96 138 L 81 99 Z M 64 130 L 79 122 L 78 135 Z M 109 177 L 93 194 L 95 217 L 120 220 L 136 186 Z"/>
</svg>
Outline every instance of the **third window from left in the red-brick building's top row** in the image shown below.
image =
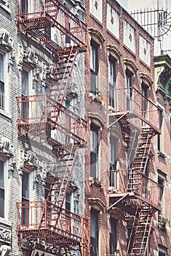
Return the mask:
<svg viewBox="0 0 171 256">
<path fill-rule="evenodd" d="M 127 110 L 132 110 L 132 73 L 126 72 Z"/>
</svg>

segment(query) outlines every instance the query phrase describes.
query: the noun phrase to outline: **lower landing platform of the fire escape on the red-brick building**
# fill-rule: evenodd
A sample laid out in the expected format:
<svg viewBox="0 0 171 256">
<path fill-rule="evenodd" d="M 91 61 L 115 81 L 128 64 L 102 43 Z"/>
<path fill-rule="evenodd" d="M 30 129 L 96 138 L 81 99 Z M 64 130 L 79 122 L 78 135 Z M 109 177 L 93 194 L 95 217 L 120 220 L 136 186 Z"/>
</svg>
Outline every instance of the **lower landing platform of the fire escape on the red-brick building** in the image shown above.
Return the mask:
<svg viewBox="0 0 171 256">
<path fill-rule="evenodd" d="M 115 203 L 117 203 L 117 200 L 122 200 L 122 197 L 125 198 L 129 198 L 129 199 L 137 199 L 142 201 L 143 203 L 147 203 L 148 205 L 150 205 L 151 207 L 155 208 L 157 211 L 162 211 L 161 206 L 159 206 L 158 204 L 154 203 L 151 200 L 148 200 L 148 198 L 143 197 L 142 195 L 139 195 L 137 192 L 121 192 L 121 193 L 112 193 L 109 195 L 110 198 L 114 198 Z"/>
</svg>

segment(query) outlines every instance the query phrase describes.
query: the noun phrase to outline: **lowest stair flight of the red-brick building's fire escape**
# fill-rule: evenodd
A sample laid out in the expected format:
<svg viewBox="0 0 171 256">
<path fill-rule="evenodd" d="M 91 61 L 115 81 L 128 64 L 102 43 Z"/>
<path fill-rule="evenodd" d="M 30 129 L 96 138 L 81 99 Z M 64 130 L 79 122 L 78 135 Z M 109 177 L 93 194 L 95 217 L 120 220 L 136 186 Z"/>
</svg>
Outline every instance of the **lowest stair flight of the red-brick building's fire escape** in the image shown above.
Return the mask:
<svg viewBox="0 0 171 256">
<path fill-rule="evenodd" d="M 135 228 L 135 238 L 132 244 L 132 256 L 146 256 L 148 240 L 151 233 L 155 209 L 143 204 L 138 218 L 138 225 Z"/>
</svg>

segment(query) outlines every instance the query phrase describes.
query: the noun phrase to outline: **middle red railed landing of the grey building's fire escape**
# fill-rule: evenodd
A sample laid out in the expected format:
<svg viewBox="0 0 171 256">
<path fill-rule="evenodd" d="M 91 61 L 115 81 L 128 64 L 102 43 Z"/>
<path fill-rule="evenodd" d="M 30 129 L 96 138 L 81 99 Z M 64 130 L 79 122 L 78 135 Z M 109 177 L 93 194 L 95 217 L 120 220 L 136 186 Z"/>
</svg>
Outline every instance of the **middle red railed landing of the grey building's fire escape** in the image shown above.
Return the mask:
<svg viewBox="0 0 171 256">
<path fill-rule="evenodd" d="M 47 94 L 17 97 L 17 110 L 18 137 L 56 130 L 55 138 L 61 144 L 69 140 L 80 146 L 86 143 L 87 121 Z"/>
</svg>

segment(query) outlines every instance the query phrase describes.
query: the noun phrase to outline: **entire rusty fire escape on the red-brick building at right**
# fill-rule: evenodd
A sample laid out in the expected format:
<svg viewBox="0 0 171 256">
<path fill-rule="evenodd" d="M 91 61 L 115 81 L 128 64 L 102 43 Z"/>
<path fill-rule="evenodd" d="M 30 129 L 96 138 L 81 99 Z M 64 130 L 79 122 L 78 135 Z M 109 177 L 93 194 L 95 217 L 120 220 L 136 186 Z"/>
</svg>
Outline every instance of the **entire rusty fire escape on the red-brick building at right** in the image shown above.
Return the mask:
<svg viewBox="0 0 171 256">
<path fill-rule="evenodd" d="M 128 97 L 129 90 L 131 97 Z M 133 222 L 130 227 L 127 255 L 146 256 L 154 214 L 161 211 L 159 184 L 149 177 L 149 172 L 146 173 L 148 159 L 153 156 L 151 142 L 156 134 L 160 134 L 157 128 L 158 110 L 154 102 L 135 88 L 120 89 L 117 95 L 121 99 L 121 110 L 109 114 L 109 128 L 116 123 L 119 124 L 125 142 L 130 144 L 130 149 L 127 154 L 127 185 L 122 191 L 109 195 L 108 210 L 116 206 L 122 207 L 123 204 L 126 210 L 129 206 L 135 208 L 131 216 Z"/>
</svg>

